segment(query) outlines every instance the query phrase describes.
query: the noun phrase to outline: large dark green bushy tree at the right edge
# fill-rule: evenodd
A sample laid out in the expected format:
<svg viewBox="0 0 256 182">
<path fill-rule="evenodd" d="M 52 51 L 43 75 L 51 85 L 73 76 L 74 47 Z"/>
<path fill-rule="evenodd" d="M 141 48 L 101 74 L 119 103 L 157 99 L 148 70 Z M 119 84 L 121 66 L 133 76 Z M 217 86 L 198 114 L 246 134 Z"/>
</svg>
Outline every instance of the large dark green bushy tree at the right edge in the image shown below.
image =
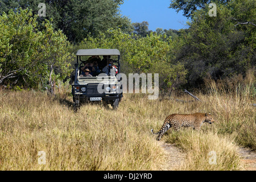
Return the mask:
<svg viewBox="0 0 256 182">
<path fill-rule="evenodd" d="M 217 4 L 217 16 L 209 16 L 209 8 L 193 13 L 189 29 L 174 41 L 174 62 L 181 61 L 188 70 L 189 86 L 200 86 L 210 75 L 214 80 L 245 75 L 255 67 L 255 3 L 232 1 Z"/>
</svg>

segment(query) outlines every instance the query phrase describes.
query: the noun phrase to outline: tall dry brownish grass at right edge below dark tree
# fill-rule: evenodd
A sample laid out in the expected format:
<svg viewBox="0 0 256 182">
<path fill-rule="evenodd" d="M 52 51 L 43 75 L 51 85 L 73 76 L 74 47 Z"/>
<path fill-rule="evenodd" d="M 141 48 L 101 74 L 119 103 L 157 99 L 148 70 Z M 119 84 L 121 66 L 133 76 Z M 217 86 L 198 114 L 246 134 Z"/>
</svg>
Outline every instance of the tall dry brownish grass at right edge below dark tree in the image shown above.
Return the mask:
<svg viewBox="0 0 256 182">
<path fill-rule="evenodd" d="M 209 101 L 218 113 L 219 133 L 236 133 L 236 141 L 256 150 L 255 70 L 215 82 L 210 80 Z"/>
</svg>

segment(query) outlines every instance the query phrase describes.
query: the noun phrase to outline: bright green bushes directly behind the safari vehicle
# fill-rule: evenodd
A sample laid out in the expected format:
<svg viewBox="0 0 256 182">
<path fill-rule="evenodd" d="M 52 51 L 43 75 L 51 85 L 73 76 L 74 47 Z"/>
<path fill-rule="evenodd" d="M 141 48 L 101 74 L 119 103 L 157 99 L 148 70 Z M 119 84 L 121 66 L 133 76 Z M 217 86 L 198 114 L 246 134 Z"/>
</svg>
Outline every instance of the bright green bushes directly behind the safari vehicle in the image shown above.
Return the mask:
<svg viewBox="0 0 256 182">
<path fill-rule="evenodd" d="M 123 73 L 159 73 L 160 89 L 171 91 L 184 84 L 187 72 L 181 63 L 170 64 L 167 53 L 173 48 L 172 41 L 162 40 L 163 36 L 151 32 L 143 38 L 110 29 L 98 38 L 86 38 L 79 47 L 117 48 L 121 52 Z"/>
</svg>

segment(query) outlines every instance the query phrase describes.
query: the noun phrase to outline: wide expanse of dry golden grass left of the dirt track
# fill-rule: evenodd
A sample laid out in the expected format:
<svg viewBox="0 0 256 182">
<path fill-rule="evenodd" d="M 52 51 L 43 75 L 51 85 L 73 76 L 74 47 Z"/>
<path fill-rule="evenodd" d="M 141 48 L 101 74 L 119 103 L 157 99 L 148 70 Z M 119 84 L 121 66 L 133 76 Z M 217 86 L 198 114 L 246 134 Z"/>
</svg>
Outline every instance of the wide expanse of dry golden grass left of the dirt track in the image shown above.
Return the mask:
<svg viewBox="0 0 256 182">
<path fill-rule="evenodd" d="M 89 104 L 75 113 L 71 97 L 0 92 L 1 170 L 154 170 L 161 163 L 164 151 L 146 128 L 151 120 L 129 100 L 118 111 Z"/>
</svg>

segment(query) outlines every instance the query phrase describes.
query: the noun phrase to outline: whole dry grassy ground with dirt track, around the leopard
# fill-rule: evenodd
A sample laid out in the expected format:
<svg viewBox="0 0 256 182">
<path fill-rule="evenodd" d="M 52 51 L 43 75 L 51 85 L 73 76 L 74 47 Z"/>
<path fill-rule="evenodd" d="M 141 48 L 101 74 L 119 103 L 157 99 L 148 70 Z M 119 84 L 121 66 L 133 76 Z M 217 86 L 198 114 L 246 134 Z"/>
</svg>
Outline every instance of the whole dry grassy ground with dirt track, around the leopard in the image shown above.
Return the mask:
<svg viewBox="0 0 256 182">
<path fill-rule="evenodd" d="M 68 85 L 56 97 L 0 90 L 0 170 L 255 170 L 246 166 L 255 161 L 255 77 L 236 80 L 208 80 L 208 92 L 196 93 L 201 101 L 182 92 L 158 100 L 125 94 L 118 110 L 84 104 L 77 113 Z M 216 122 L 170 130 L 160 142 L 150 131 L 169 114 L 195 112 Z"/>
</svg>

